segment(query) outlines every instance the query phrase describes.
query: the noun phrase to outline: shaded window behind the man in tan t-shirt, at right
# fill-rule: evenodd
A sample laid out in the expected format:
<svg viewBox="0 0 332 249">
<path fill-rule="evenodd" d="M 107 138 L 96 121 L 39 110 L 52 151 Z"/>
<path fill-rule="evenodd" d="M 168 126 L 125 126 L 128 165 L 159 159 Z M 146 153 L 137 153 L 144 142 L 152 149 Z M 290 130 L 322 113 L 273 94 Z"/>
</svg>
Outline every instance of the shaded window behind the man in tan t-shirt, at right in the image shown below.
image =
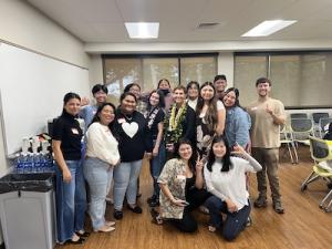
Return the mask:
<svg viewBox="0 0 332 249">
<path fill-rule="evenodd" d="M 261 76 L 272 81 L 271 95 L 284 106 L 331 106 L 332 52 L 235 54 L 235 86 L 245 106 L 257 100 L 255 83 Z"/>
</svg>

